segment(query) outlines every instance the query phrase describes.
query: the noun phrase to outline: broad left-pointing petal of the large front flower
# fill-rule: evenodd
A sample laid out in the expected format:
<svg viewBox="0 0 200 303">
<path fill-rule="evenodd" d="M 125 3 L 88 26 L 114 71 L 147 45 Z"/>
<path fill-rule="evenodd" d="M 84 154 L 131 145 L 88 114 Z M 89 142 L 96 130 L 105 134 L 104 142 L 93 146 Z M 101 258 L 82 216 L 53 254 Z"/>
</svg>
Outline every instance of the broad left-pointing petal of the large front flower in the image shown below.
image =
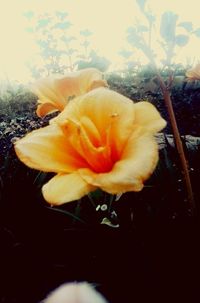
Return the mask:
<svg viewBox="0 0 200 303">
<path fill-rule="evenodd" d="M 16 141 L 15 151 L 27 166 L 46 172 L 64 173 L 88 167 L 56 124 L 32 131 Z"/>
</svg>

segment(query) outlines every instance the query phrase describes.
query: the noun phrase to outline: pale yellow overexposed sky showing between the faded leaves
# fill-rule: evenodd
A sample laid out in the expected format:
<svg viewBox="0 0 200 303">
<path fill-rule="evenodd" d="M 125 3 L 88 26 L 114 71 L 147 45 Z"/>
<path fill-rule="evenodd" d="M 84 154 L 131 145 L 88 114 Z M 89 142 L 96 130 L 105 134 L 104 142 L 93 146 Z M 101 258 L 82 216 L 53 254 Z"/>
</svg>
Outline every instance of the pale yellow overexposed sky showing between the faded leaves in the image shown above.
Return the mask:
<svg viewBox="0 0 200 303">
<path fill-rule="evenodd" d="M 199 0 L 147 0 L 147 5 L 158 19 L 164 11 L 171 10 L 180 21 L 192 21 L 194 27 L 200 27 Z M 92 45 L 111 61 L 111 69 L 122 62 L 120 49 L 130 49 L 127 28 L 136 18 L 143 22 L 136 0 L 0 0 L 0 77 L 18 81 L 30 78 L 26 62 L 37 53 L 33 36 L 25 30 L 27 19 L 23 14 L 30 10 L 35 14 L 66 11 L 75 35 L 86 28 L 93 33 Z M 180 56 L 182 60 L 198 60 L 200 39 L 191 39 Z"/>
</svg>

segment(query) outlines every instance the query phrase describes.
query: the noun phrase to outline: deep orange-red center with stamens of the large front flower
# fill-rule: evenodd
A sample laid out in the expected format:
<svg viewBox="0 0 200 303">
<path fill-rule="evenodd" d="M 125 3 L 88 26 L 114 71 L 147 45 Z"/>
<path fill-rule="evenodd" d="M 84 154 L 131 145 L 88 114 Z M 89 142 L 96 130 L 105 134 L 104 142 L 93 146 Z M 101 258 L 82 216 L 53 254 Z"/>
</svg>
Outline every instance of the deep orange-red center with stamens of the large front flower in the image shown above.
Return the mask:
<svg viewBox="0 0 200 303">
<path fill-rule="evenodd" d="M 111 118 L 113 117 L 117 117 L 117 114 L 113 114 Z M 112 120 L 105 128 L 104 134 L 100 134 L 95 124 L 86 116 L 81 117 L 79 121 L 68 118 L 60 126 L 66 139 L 85 160 L 88 168 L 96 173 L 105 173 L 112 169 L 116 160 L 110 145 Z"/>
</svg>

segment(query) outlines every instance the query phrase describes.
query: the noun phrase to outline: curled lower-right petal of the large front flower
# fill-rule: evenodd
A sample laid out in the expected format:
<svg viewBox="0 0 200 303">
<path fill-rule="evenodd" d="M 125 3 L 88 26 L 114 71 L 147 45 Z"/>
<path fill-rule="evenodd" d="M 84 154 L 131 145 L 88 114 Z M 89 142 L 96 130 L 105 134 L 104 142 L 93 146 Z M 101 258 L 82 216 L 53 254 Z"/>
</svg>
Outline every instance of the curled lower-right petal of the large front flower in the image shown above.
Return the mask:
<svg viewBox="0 0 200 303">
<path fill-rule="evenodd" d="M 150 134 L 129 139 L 121 160 L 111 172 L 95 174 L 89 169 L 80 169 L 79 173 L 86 182 L 102 190 L 118 194 L 127 191 L 140 191 L 143 182 L 148 179 L 158 161 L 158 146 Z"/>
</svg>

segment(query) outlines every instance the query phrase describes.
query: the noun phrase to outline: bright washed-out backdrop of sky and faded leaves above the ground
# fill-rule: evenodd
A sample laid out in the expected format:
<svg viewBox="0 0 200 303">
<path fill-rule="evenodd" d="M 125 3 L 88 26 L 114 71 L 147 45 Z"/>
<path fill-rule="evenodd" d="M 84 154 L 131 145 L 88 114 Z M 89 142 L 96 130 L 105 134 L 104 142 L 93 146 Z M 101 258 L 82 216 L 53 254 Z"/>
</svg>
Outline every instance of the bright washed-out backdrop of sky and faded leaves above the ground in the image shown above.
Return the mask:
<svg viewBox="0 0 200 303">
<path fill-rule="evenodd" d="M 173 62 L 199 60 L 198 0 L 162 5 L 159 0 L 1 0 L 0 5 L 1 79 L 24 83 L 86 65 L 109 72 L 145 65 L 138 34 L 153 48 L 157 64 L 166 59 L 166 42 L 175 43 Z"/>
</svg>

